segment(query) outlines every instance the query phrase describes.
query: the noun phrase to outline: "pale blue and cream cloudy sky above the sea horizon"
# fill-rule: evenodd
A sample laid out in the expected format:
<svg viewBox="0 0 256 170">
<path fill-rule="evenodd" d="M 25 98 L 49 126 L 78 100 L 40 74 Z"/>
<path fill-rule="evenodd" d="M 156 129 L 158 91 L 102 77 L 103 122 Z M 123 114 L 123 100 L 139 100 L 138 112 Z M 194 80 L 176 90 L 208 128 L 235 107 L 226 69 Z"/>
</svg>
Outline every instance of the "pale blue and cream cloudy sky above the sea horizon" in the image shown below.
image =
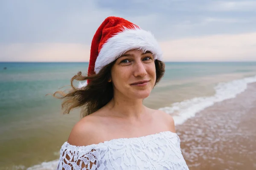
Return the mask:
<svg viewBox="0 0 256 170">
<path fill-rule="evenodd" d="M 88 62 L 108 16 L 151 31 L 164 61 L 256 61 L 255 0 L 1 0 L 0 62 Z"/>
</svg>

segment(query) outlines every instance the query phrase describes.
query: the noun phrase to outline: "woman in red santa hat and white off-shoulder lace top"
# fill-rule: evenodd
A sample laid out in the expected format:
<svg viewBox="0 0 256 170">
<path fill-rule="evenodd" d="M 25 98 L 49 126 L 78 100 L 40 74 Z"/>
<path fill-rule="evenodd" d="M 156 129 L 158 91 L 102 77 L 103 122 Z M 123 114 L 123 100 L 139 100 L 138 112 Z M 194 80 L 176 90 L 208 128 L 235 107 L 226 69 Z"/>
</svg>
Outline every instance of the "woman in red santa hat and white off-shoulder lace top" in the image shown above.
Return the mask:
<svg viewBox="0 0 256 170">
<path fill-rule="evenodd" d="M 164 74 L 154 36 L 108 17 L 93 37 L 88 75 L 61 94 L 66 113 L 83 118 L 61 147 L 58 170 L 187 170 L 172 117 L 143 105 Z M 79 88 L 73 80 L 87 80 Z"/>
</svg>

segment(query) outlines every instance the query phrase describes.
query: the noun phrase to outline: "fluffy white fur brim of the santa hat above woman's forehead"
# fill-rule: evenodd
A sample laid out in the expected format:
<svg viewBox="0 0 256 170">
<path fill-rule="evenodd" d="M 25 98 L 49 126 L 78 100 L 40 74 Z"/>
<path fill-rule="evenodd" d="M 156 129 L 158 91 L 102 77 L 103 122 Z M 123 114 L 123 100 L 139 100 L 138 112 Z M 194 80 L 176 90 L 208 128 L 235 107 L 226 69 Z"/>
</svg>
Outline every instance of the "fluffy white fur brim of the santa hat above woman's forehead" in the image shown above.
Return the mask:
<svg viewBox="0 0 256 170">
<path fill-rule="evenodd" d="M 140 28 L 125 28 L 122 32 L 117 33 L 109 38 L 102 49 L 95 62 L 94 71 L 99 73 L 101 68 L 116 60 L 126 51 L 131 49 L 140 49 L 142 51 L 151 51 L 154 59 L 162 60 L 162 50 L 154 35 L 149 31 Z"/>
</svg>

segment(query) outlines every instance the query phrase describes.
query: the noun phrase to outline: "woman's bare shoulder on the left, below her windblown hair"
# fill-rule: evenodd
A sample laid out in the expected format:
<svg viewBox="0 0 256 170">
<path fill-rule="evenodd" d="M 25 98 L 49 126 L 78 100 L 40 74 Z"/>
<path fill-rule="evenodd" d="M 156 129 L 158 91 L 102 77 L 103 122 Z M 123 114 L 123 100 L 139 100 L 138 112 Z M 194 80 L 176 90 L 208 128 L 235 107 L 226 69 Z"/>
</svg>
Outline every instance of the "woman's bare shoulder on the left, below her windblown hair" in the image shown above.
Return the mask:
<svg viewBox="0 0 256 170">
<path fill-rule="evenodd" d="M 102 128 L 97 116 L 85 116 L 77 122 L 71 130 L 67 142 L 75 146 L 87 146 L 102 142 Z"/>
</svg>

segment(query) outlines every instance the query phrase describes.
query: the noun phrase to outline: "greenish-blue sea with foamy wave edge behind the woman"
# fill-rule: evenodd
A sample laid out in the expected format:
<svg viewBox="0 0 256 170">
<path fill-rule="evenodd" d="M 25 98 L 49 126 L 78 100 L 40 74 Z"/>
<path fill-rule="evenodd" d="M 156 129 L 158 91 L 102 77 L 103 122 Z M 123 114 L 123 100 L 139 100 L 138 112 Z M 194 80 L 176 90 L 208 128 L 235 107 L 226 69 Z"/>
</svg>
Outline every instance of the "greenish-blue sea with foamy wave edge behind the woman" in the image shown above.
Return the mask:
<svg viewBox="0 0 256 170">
<path fill-rule="evenodd" d="M 166 111 L 180 128 L 256 82 L 256 62 L 165 64 L 144 104 Z M 0 62 L 0 170 L 56 169 L 61 145 L 81 116 L 79 109 L 63 114 L 61 100 L 47 94 L 70 88 L 70 79 L 87 68 L 87 62 Z"/>
</svg>

